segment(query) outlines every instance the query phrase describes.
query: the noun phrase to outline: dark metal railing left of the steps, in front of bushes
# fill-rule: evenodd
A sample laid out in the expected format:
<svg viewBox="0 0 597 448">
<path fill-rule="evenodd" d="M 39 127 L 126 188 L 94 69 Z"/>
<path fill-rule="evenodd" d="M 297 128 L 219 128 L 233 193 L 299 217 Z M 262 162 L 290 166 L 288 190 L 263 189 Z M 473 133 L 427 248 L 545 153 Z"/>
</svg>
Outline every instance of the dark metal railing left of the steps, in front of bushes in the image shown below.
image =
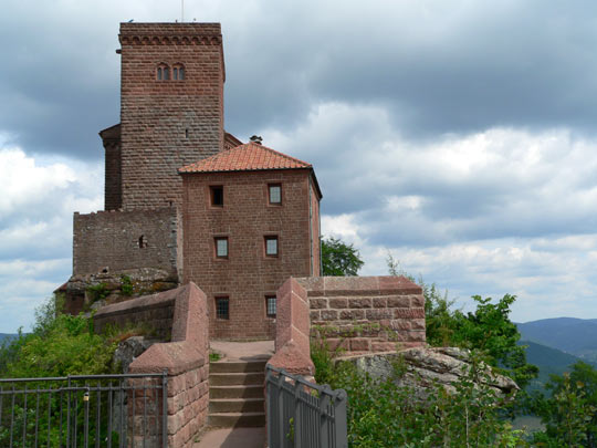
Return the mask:
<svg viewBox="0 0 597 448">
<path fill-rule="evenodd" d="M 0 447 L 167 447 L 167 374 L 0 379 Z"/>
</svg>

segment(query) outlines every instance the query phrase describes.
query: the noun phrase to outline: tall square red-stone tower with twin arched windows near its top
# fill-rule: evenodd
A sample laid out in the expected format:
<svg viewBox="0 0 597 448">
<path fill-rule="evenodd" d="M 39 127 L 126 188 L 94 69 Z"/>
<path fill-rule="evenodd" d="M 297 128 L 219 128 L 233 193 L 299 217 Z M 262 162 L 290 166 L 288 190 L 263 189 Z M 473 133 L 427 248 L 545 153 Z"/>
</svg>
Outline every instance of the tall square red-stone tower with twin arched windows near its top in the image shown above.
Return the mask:
<svg viewBox="0 0 597 448">
<path fill-rule="evenodd" d="M 123 208 L 180 205 L 177 169 L 223 148 L 220 24 L 121 23 L 119 40 Z"/>
</svg>

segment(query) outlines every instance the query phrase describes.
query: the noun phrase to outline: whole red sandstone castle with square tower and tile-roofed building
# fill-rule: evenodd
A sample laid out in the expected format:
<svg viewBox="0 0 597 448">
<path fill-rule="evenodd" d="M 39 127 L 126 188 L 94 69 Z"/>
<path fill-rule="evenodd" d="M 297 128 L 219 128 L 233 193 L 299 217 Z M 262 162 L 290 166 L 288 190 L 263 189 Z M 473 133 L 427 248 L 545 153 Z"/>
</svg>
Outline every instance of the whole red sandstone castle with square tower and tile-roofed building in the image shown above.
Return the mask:
<svg viewBox="0 0 597 448">
<path fill-rule="evenodd" d="M 122 23 L 119 42 L 121 123 L 100 133 L 105 210 L 74 213 L 66 311 L 98 285 L 192 281 L 210 337 L 273 338 L 276 290 L 321 274 L 312 165 L 224 131 L 219 23 Z"/>
</svg>

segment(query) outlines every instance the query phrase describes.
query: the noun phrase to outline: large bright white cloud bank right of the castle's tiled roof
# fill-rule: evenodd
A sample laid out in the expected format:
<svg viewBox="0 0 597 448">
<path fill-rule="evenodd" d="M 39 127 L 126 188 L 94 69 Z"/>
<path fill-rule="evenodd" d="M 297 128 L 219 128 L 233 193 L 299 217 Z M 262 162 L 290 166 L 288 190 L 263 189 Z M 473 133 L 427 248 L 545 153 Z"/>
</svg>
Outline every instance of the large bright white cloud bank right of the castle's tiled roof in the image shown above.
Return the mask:
<svg viewBox="0 0 597 448">
<path fill-rule="evenodd" d="M 519 321 L 597 315 L 597 140 L 491 128 L 416 144 L 386 118 L 320 104 L 290 133 L 261 133 L 314 163 L 323 233 L 360 249 L 363 274 L 387 273 L 390 251 L 461 304 L 511 293 Z"/>
</svg>

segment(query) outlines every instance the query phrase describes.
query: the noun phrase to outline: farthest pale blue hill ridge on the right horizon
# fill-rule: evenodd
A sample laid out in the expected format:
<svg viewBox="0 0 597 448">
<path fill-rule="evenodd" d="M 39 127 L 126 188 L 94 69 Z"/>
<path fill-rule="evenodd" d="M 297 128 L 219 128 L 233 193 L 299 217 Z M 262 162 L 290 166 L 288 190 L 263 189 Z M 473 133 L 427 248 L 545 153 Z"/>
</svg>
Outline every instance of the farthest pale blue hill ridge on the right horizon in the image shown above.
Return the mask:
<svg viewBox="0 0 597 448">
<path fill-rule="evenodd" d="M 543 319 L 516 325 L 524 341 L 597 362 L 597 319 Z"/>
</svg>

